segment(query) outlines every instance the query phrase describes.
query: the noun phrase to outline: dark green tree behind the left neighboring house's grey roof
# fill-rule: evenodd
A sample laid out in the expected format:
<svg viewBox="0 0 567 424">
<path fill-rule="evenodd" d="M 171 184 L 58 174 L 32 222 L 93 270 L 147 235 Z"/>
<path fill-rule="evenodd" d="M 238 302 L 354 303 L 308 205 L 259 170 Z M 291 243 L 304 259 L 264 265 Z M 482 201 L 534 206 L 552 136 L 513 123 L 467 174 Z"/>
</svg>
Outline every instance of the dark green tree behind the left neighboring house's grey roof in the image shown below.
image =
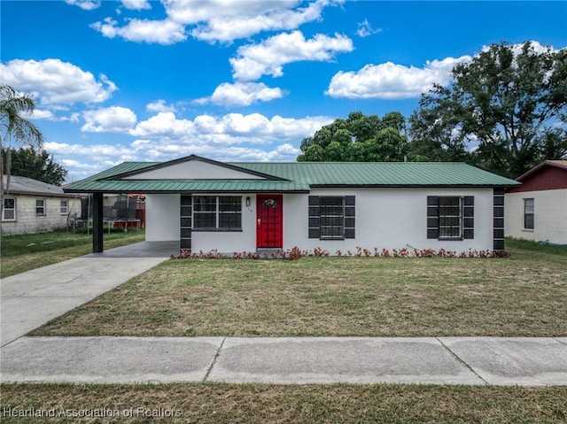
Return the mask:
<svg viewBox="0 0 567 424">
<path fill-rule="evenodd" d="M 2 151 L 4 161 L 8 156 L 12 157 L 12 175 L 33 178 L 56 186 L 65 181 L 66 169 L 56 163 L 53 157 L 43 149 L 35 149 L 34 147 L 4 148 Z"/>
</svg>

